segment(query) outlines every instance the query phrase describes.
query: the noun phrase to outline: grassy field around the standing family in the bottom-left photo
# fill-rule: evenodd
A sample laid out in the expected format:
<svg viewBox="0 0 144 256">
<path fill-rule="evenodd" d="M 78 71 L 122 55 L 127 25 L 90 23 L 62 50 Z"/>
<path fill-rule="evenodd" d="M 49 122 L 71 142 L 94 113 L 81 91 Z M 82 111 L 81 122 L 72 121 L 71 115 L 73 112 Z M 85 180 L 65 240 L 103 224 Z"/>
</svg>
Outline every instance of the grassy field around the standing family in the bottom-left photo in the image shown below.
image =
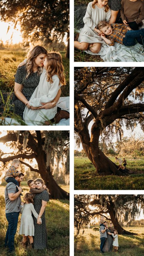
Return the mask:
<svg viewBox="0 0 144 256">
<path fill-rule="evenodd" d="M 26 182 L 22 182 L 23 195 L 29 191 Z M 63 189 L 67 190 L 68 187 Z M 0 256 L 7 256 L 5 251 L 4 239 L 7 228 L 5 218 L 5 186 L 0 186 Z M 21 197 L 23 201 L 23 196 Z M 48 234 L 48 249 L 45 251 L 26 250 L 22 247 L 22 235 L 18 234 L 20 217 L 17 233 L 15 235 L 15 253 L 17 256 L 67 256 L 69 255 L 69 200 L 50 200 L 46 206 L 46 228 Z"/>
</svg>

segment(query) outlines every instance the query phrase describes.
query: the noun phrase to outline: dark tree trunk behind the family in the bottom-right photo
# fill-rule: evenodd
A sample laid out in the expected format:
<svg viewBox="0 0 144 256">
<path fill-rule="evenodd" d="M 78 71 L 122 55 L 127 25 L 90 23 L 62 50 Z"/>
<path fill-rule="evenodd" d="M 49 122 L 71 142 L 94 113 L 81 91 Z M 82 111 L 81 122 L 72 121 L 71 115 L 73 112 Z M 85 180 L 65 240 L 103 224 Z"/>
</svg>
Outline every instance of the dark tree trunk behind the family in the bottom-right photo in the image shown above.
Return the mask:
<svg viewBox="0 0 144 256">
<path fill-rule="evenodd" d="M 135 233 L 131 233 L 121 227 L 121 225 L 118 223 L 118 219 L 115 217 L 115 211 L 112 209 L 109 211 L 109 215 L 111 217 L 111 222 L 114 225 L 115 230 L 118 231 L 119 235 L 137 235 Z"/>
</svg>

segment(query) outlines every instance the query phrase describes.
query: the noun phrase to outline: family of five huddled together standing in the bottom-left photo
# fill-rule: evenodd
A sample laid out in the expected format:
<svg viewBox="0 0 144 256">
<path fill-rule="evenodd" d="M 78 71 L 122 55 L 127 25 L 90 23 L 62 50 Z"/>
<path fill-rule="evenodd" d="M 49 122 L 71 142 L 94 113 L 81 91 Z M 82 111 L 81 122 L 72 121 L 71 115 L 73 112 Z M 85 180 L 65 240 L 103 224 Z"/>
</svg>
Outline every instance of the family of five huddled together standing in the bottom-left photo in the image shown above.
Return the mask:
<svg viewBox="0 0 144 256">
<path fill-rule="evenodd" d="M 45 208 L 49 201 L 49 190 L 42 179 L 30 179 L 27 184 L 30 188 L 21 201 L 22 182 L 24 174 L 18 171 L 20 161 L 14 159 L 12 166 L 5 175 L 8 183 L 5 188 L 5 213 L 8 228 L 5 236 L 5 248 L 9 252 L 15 251 L 14 238 L 17 230 L 19 213 L 22 213 L 19 234 L 23 235 L 24 247 L 43 250 L 47 247 L 47 233 L 45 221 Z M 29 238 L 29 242 L 28 239 Z"/>
</svg>

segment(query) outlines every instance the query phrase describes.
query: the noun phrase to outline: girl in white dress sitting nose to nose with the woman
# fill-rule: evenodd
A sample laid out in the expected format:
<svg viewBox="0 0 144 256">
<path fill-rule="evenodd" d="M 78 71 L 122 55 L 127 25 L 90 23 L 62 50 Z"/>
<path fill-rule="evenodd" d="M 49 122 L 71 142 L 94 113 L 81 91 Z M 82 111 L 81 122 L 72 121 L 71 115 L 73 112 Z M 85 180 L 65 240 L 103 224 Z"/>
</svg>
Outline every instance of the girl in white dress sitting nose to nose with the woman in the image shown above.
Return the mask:
<svg viewBox="0 0 144 256">
<path fill-rule="evenodd" d="M 43 72 L 40 76 L 39 85 L 33 92 L 30 100 L 26 102 L 23 113 L 25 122 L 32 121 L 34 125 L 42 125 L 46 120 L 53 119 L 57 113 L 56 103 L 53 101 L 52 109 L 30 109 L 31 106 L 42 106 L 41 102 L 50 102 L 57 95 L 61 85 L 65 85 L 61 54 L 50 52 L 46 55 L 43 63 Z"/>
</svg>

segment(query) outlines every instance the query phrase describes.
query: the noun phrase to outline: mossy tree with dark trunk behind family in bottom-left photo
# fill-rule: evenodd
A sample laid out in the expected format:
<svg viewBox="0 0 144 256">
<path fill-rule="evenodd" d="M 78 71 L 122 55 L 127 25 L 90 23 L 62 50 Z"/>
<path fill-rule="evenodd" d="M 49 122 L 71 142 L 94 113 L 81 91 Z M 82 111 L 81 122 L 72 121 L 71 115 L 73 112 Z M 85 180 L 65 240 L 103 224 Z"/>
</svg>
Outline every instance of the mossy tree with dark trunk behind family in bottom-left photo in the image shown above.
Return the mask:
<svg viewBox="0 0 144 256">
<path fill-rule="evenodd" d="M 4 167 L 18 158 L 31 171 L 41 175 L 50 189 L 51 198 L 69 197 L 55 181 L 60 175 L 65 182 L 69 181 L 69 131 L 7 131 L 7 135 L 0 137 L 0 142 L 12 148 L 12 153 L 0 152 Z M 35 167 L 31 166 L 33 159 L 37 162 Z M 5 168 L 2 167 L 1 172 L 4 176 Z"/>
</svg>

